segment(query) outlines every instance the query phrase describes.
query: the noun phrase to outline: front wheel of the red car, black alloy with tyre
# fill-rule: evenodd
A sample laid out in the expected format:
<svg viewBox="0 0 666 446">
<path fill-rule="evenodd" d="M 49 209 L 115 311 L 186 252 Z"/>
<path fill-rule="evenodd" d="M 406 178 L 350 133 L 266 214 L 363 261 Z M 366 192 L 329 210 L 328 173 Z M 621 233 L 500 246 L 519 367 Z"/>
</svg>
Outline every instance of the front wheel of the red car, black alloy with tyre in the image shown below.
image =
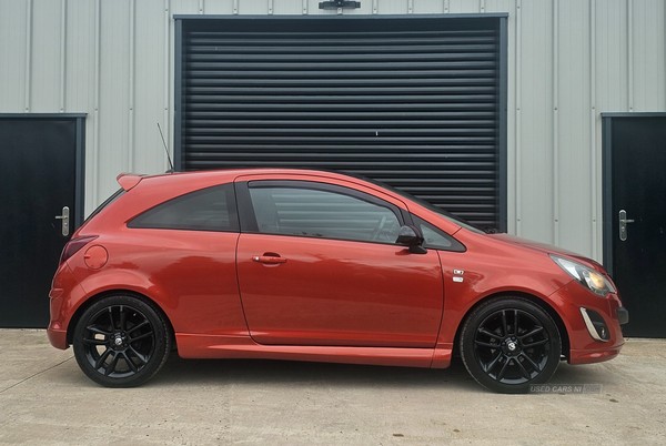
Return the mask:
<svg viewBox="0 0 666 446">
<path fill-rule="evenodd" d="M 546 383 L 562 353 L 553 318 L 522 297 L 498 297 L 474 310 L 460 346 L 472 377 L 500 393 L 526 393 L 531 385 Z"/>
</svg>

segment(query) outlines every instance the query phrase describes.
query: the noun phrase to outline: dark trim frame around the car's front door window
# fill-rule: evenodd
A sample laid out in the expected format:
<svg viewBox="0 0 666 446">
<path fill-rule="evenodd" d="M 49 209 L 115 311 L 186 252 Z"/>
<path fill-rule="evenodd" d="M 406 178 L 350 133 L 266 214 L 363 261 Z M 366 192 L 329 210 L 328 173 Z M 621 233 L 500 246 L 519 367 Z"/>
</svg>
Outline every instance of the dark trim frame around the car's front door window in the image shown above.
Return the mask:
<svg viewBox="0 0 666 446">
<path fill-rule="evenodd" d="M 355 189 L 346 187 L 337 184 L 321 183 L 309 180 L 250 180 L 239 181 L 234 183 L 236 192 L 236 203 L 239 206 L 239 220 L 241 223 L 241 233 L 263 234 L 263 235 L 278 235 L 287 237 L 306 237 L 317 240 L 336 240 L 344 242 L 354 243 L 374 243 L 383 245 L 400 246 L 395 242 L 382 242 L 382 241 L 362 241 L 362 240 L 349 240 L 349 239 L 331 239 L 331 237 L 312 237 L 309 235 L 296 235 L 296 234 L 269 234 L 259 231 L 259 224 L 256 223 L 256 215 L 254 214 L 254 207 L 252 205 L 252 197 L 250 196 L 250 189 L 262 189 L 262 187 L 286 187 L 286 189 L 307 189 L 322 192 L 337 193 L 341 195 L 347 195 L 356 200 L 364 201 L 366 203 L 375 204 L 385 207 L 393 212 L 400 225 L 404 225 L 407 221 L 408 213 L 402 207 L 395 204 L 389 203 L 380 197 L 371 195 L 365 192 L 357 191 Z"/>
</svg>

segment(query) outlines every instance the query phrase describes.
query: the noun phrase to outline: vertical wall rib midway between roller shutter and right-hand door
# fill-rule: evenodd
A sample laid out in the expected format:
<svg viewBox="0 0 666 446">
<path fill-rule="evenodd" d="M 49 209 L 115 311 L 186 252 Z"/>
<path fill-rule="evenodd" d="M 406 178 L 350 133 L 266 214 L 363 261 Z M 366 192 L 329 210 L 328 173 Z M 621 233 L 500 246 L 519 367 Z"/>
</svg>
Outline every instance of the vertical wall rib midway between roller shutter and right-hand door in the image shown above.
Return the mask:
<svg viewBox="0 0 666 446">
<path fill-rule="evenodd" d="M 559 243 L 559 0 L 553 1 L 553 244 Z"/>
</svg>

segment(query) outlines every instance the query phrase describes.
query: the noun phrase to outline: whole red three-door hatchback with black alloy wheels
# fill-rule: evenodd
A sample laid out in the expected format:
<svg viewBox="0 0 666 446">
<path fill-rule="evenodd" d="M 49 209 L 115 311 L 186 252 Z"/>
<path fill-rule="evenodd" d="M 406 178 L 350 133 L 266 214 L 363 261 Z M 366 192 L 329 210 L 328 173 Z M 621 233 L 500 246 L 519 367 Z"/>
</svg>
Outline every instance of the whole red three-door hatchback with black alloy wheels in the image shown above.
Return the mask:
<svg viewBox="0 0 666 446">
<path fill-rule="evenodd" d="M 628 313 L 579 255 L 300 170 L 120 175 L 68 243 L 49 338 L 109 387 L 185 358 L 447 367 L 497 392 L 612 359 Z"/>
</svg>

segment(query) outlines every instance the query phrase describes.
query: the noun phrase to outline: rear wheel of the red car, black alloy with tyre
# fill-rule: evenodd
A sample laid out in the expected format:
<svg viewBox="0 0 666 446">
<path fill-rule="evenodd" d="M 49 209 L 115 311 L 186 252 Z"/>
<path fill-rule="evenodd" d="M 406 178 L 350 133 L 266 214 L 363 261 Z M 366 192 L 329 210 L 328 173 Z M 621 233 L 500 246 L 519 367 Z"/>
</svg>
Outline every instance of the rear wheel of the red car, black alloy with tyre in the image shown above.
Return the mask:
<svg viewBox="0 0 666 446">
<path fill-rule="evenodd" d="M 81 315 L 73 336 L 79 367 L 107 387 L 133 387 L 167 362 L 171 333 L 160 312 L 138 297 L 114 295 Z"/>
</svg>

